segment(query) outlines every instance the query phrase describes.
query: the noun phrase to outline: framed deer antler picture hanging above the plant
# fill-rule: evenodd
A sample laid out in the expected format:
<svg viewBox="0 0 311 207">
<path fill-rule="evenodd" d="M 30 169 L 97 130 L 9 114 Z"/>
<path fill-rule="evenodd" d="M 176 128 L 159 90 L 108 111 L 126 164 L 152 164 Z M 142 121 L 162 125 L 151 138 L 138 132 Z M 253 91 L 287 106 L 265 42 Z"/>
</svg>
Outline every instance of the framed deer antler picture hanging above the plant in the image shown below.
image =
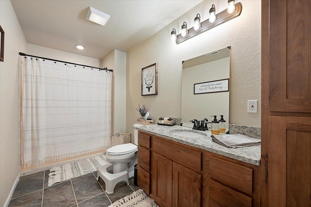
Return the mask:
<svg viewBox="0 0 311 207">
<path fill-rule="evenodd" d="M 157 95 L 157 63 L 141 68 L 141 96 Z"/>
</svg>

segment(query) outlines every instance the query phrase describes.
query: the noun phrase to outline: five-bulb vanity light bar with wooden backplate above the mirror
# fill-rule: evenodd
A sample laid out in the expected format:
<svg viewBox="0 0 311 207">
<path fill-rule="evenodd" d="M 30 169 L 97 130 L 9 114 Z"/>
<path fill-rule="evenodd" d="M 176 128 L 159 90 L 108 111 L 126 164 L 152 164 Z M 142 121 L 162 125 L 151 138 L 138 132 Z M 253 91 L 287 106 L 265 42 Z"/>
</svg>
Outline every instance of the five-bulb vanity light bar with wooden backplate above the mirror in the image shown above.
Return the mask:
<svg viewBox="0 0 311 207">
<path fill-rule="evenodd" d="M 232 1 L 232 2 L 231 2 Z M 216 18 L 216 8 L 215 5 L 213 4 L 212 7 L 209 10 L 210 17 L 207 20 L 201 21 L 200 15 L 197 14 L 197 16 L 194 18 L 194 26 L 190 29 L 187 28 L 187 23 L 184 22 L 182 27 L 181 27 L 181 33 L 177 35 L 176 30 L 173 29 L 171 32 L 172 40 L 176 41 L 176 44 L 178 45 L 179 43 L 182 43 L 192 37 L 195 37 L 198 34 L 201 34 L 203 32 L 206 32 L 207 30 L 210 30 L 214 27 L 217 27 L 218 25 L 221 25 L 227 21 L 230 21 L 231 19 L 240 16 L 242 12 L 242 3 L 238 2 L 234 4 L 234 0 L 228 0 L 229 5 L 233 4 L 235 9 L 231 14 L 228 13 L 228 10 L 225 9 L 221 12 L 217 13 L 217 18 Z M 230 10 L 231 12 L 231 10 Z M 199 23 L 199 24 L 198 24 Z"/>
</svg>

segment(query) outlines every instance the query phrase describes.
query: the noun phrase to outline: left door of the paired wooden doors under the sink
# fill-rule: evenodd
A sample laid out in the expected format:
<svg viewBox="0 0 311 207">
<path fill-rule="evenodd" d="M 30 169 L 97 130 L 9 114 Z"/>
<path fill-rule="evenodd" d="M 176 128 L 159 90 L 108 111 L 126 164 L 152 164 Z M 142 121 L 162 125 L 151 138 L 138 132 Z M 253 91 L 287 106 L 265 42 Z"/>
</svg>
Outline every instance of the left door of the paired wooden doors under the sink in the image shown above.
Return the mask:
<svg viewBox="0 0 311 207">
<path fill-rule="evenodd" d="M 172 207 L 173 161 L 152 153 L 152 198 L 161 207 Z"/>
</svg>

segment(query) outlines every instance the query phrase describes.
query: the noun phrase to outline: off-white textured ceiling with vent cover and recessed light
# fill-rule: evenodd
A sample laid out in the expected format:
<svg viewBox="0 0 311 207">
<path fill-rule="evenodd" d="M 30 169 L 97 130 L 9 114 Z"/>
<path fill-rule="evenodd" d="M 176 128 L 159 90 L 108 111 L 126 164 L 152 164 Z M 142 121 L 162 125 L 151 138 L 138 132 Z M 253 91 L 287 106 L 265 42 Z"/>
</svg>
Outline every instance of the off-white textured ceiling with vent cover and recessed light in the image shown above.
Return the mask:
<svg viewBox="0 0 311 207">
<path fill-rule="evenodd" d="M 127 52 L 201 1 L 11 0 L 27 43 L 96 59 Z M 107 24 L 87 20 L 88 7 L 110 15 Z"/>
</svg>

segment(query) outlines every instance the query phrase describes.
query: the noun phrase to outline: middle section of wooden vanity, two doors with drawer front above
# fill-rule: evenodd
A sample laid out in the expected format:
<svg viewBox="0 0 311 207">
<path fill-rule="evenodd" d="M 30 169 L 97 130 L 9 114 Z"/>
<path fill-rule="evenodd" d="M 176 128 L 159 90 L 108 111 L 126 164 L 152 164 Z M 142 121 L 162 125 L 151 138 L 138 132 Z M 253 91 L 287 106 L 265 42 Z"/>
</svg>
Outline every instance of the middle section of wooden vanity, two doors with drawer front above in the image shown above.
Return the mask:
<svg viewBox="0 0 311 207">
<path fill-rule="evenodd" d="M 200 207 L 201 152 L 152 137 L 151 197 L 161 207 Z"/>
</svg>

